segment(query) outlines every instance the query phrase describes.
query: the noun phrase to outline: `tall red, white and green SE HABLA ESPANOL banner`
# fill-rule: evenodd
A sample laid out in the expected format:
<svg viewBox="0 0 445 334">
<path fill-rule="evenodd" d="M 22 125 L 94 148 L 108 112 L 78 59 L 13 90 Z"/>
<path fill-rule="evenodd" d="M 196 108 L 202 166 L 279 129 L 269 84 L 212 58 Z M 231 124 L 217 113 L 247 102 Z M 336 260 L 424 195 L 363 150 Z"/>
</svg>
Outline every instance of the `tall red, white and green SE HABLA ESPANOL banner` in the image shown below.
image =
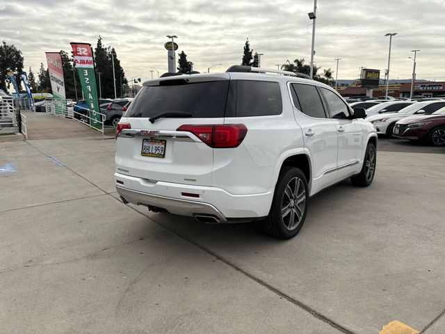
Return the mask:
<svg viewBox="0 0 445 334">
<path fill-rule="evenodd" d="M 90 125 L 102 127 L 99 99 L 97 98 L 95 63 L 92 59 L 91 45 L 88 43 L 70 43 L 74 54 L 74 63 L 81 81 L 83 96 L 90 109 Z"/>
</svg>

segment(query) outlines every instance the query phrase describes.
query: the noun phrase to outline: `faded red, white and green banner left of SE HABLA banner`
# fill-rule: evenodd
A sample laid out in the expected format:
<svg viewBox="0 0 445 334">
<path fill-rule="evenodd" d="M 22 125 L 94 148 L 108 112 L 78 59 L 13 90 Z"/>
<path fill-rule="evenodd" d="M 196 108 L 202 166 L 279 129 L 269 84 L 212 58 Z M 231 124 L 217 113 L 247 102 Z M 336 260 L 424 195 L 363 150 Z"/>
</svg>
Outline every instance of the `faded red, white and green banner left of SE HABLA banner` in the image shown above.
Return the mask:
<svg viewBox="0 0 445 334">
<path fill-rule="evenodd" d="M 49 80 L 53 90 L 55 112 L 67 114 L 67 102 L 65 98 L 65 81 L 63 80 L 62 57 L 58 52 L 45 52 L 47 55 Z"/>
</svg>

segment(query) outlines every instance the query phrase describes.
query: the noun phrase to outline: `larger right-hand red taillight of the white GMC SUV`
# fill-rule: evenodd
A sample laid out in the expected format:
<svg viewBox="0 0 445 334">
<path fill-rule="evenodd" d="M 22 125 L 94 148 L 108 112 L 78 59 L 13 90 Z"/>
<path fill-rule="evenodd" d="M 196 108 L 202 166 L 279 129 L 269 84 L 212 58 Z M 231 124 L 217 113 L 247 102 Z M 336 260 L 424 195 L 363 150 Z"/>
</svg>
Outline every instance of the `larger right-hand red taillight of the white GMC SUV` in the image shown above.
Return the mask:
<svg viewBox="0 0 445 334">
<path fill-rule="evenodd" d="M 177 131 L 191 132 L 211 148 L 237 148 L 248 128 L 243 124 L 181 125 Z"/>
</svg>

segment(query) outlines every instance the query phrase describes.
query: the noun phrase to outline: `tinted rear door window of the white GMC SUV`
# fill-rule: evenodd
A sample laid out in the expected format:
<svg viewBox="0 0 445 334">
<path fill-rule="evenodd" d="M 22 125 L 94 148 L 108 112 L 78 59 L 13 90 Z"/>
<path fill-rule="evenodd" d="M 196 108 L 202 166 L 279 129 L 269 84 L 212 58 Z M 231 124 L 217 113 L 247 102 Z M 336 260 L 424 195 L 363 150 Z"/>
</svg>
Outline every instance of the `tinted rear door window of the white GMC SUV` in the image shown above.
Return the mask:
<svg viewBox="0 0 445 334">
<path fill-rule="evenodd" d="M 296 93 L 292 94 L 294 104 L 297 108 L 300 106 L 302 113 L 314 118 L 326 118 L 321 97 L 315 86 L 304 84 L 291 84 L 291 86 Z"/>
</svg>

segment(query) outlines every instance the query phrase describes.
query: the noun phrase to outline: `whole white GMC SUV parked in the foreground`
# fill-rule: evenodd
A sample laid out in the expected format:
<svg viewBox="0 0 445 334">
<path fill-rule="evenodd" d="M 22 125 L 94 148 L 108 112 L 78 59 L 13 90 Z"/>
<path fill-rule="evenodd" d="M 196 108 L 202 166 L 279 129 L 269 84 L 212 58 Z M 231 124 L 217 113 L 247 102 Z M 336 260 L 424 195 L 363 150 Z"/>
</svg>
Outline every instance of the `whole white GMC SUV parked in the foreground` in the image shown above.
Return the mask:
<svg viewBox="0 0 445 334">
<path fill-rule="evenodd" d="M 309 196 L 348 177 L 371 184 L 377 147 L 364 109 L 306 78 L 236 65 L 145 82 L 116 129 L 122 201 L 296 235 Z"/>
</svg>

